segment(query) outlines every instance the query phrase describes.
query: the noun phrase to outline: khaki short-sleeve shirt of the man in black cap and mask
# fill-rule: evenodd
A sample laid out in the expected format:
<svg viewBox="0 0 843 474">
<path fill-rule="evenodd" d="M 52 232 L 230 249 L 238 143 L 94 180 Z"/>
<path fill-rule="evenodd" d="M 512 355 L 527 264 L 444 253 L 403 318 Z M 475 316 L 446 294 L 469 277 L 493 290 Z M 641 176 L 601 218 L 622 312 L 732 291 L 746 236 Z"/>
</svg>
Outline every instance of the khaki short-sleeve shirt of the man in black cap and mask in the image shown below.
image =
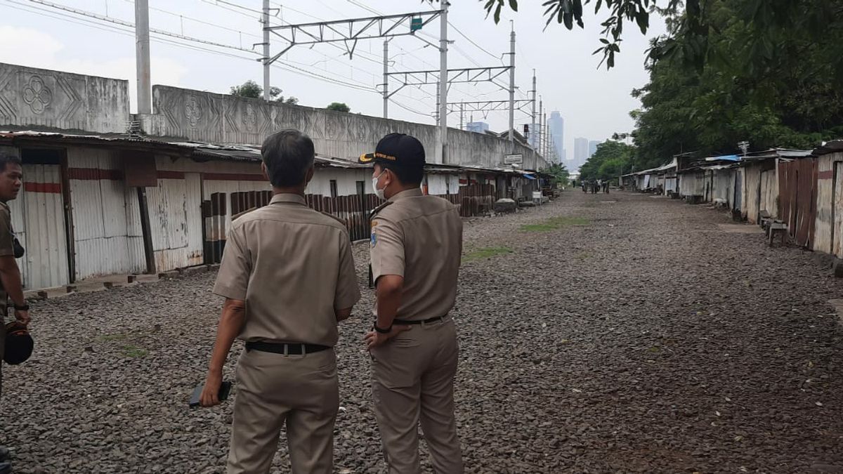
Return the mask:
<svg viewBox="0 0 843 474">
<path fill-rule="evenodd" d="M 404 277 L 397 319 L 447 315 L 457 297 L 463 245 L 457 208 L 417 189 L 400 192 L 389 201 L 372 218 L 373 281 L 384 275 Z M 377 316 L 377 305 L 373 314 Z"/>
</svg>

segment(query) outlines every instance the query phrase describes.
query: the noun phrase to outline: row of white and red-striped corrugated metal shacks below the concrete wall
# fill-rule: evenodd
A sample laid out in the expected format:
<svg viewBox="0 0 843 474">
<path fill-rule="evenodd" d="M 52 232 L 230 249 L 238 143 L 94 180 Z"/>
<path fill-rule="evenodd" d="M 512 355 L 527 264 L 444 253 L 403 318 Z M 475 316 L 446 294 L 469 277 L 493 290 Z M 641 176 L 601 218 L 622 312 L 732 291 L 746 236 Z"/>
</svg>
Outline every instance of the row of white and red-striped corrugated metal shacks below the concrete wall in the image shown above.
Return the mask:
<svg viewBox="0 0 843 474">
<path fill-rule="evenodd" d="M 256 147 L 15 131 L 0 132 L 0 149 L 24 162 L 24 189 L 10 206 L 30 249 L 19 261 L 27 289 L 218 262 L 232 218 L 271 198 Z M 316 165 L 309 205 L 344 219 L 352 239 L 367 239 L 368 213 L 380 202 L 371 170 L 322 155 Z M 470 217 L 490 212 L 498 197 L 539 190 L 540 180 L 523 170 L 435 165 L 422 187 Z"/>
</svg>

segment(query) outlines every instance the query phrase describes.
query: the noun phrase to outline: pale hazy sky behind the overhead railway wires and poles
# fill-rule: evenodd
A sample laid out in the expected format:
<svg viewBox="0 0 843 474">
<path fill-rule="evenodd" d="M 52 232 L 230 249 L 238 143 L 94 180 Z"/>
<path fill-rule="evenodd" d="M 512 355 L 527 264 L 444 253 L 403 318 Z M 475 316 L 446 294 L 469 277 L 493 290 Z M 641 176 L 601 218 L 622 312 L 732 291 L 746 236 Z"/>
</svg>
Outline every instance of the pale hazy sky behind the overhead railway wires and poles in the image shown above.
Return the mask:
<svg viewBox="0 0 843 474">
<path fill-rule="evenodd" d="M 0 62 L 44 67 L 72 73 L 130 79 L 132 102 L 135 85 L 135 44 L 132 30 L 118 24 L 80 17 L 67 11 L 46 7 L 41 0 L 0 0 Z M 132 0 L 51 0 L 68 8 L 77 8 L 101 16 L 134 22 Z M 508 64 L 502 56 L 509 51 L 510 19 L 517 35 L 516 99 L 525 99 L 532 89 L 536 70 L 538 91 L 545 110 L 559 110 L 565 118 L 565 146 L 573 155 L 574 137 L 599 139 L 632 128 L 629 111 L 639 106 L 630 97 L 633 88 L 647 82 L 643 68 L 647 38 L 662 34 L 663 22 L 653 18 L 647 37 L 630 24 L 625 32 L 615 68 L 598 68 L 600 57 L 591 53 L 599 47 L 599 16 L 587 7 L 585 30 L 565 30 L 559 24 L 544 29 L 539 0 L 522 0 L 520 11 L 506 11 L 501 23 L 485 19 L 483 3 L 477 0 L 452 0 L 448 19 L 453 27 L 448 37 L 454 40 L 448 67 L 488 67 Z M 258 10 L 260 0 L 149 0 L 150 26 L 153 29 L 201 38 L 202 40 L 250 50 L 261 41 Z M 239 5 L 244 8 L 238 8 Z M 437 4 L 438 5 L 438 4 Z M 373 16 L 379 13 L 427 11 L 428 3 L 418 0 L 290 0 L 272 1 L 279 8 L 273 24 L 310 23 L 344 18 Z M 276 13 L 276 12 L 273 12 Z M 438 20 L 422 30 L 422 38 L 438 41 Z M 477 46 L 466 40 L 470 37 Z M 262 82 L 259 55 L 250 51 L 185 43 L 153 35 L 153 84 L 227 93 L 230 86 L 253 79 Z M 190 45 L 184 47 L 172 41 Z M 273 36 L 273 54 L 280 51 L 281 40 Z M 383 82 L 383 40 L 362 40 L 352 60 L 342 43 L 295 46 L 272 68 L 272 84 L 283 94 L 298 97 L 301 105 L 324 107 L 330 102 L 348 104 L 352 111 L 382 116 L 383 100 L 375 88 Z M 200 51 L 196 47 L 211 51 Z M 255 47 L 255 52 L 260 46 Z M 390 41 L 390 70 L 426 70 L 439 68 L 438 51 L 412 36 Z M 483 51 L 485 50 L 485 51 Z M 314 78 L 302 72 L 318 74 Z M 346 84 L 332 83 L 330 80 Z M 508 76 L 500 83 L 506 85 Z M 349 87 L 352 84 L 354 87 Z M 390 87 L 395 88 L 396 83 Z M 389 105 L 390 118 L 433 123 L 436 86 L 421 89 L 406 87 Z M 448 101 L 507 100 L 506 90 L 490 83 L 454 84 Z M 401 106 L 403 105 L 403 107 Z M 537 106 L 538 109 L 538 106 Z M 132 103 L 132 110 L 135 110 Z M 506 110 L 491 112 L 475 121 L 489 122 L 493 130 L 507 128 Z M 469 117 L 465 117 L 469 121 Z M 529 116 L 516 112 L 516 124 L 529 122 Z M 448 116 L 448 125 L 459 127 L 459 113 Z"/>
</svg>

